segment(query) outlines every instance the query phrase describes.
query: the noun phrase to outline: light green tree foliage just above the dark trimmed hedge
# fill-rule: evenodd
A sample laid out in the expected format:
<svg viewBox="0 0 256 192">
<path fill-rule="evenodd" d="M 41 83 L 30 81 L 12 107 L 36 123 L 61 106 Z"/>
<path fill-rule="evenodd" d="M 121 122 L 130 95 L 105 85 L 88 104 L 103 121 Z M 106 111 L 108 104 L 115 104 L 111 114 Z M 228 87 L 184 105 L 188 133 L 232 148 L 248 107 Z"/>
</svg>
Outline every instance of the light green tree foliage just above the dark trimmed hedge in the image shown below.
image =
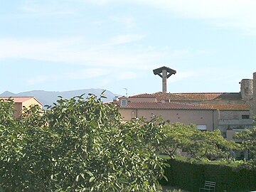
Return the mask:
<svg viewBox="0 0 256 192">
<path fill-rule="evenodd" d="M 165 124 L 162 127 L 159 151 L 164 151 L 174 159 L 178 151 L 186 151 L 188 156 L 196 159 L 223 159 L 230 156 L 230 149 L 238 149 L 235 142 L 226 141 L 220 131 L 202 132 L 193 125 Z"/>
</svg>

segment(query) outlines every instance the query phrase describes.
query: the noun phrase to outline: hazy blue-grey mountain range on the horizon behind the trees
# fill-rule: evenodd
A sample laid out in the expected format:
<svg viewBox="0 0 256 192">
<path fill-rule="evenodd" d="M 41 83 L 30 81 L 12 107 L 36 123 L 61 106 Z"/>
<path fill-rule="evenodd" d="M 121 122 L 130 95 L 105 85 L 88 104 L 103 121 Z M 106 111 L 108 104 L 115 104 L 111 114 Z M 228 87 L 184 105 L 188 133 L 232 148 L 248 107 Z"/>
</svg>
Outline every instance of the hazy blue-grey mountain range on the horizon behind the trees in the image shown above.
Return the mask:
<svg viewBox="0 0 256 192">
<path fill-rule="evenodd" d="M 89 93 L 97 95 L 99 97 L 102 93 L 102 89 L 85 89 L 85 90 L 71 90 L 71 91 L 63 91 L 63 92 L 55 92 L 55 91 L 44 91 L 44 90 L 33 90 L 28 92 L 3 92 L 0 94 L 0 97 L 36 97 L 43 105 L 53 105 L 53 102 L 56 102 L 60 99 L 58 96 L 61 96 L 65 99 L 70 99 L 75 96 L 80 96 L 85 94 L 83 97 L 88 97 Z M 104 95 L 107 98 L 102 98 L 103 102 L 111 101 L 114 97 L 119 97 L 120 95 L 114 94 L 108 90 L 105 91 Z"/>
</svg>

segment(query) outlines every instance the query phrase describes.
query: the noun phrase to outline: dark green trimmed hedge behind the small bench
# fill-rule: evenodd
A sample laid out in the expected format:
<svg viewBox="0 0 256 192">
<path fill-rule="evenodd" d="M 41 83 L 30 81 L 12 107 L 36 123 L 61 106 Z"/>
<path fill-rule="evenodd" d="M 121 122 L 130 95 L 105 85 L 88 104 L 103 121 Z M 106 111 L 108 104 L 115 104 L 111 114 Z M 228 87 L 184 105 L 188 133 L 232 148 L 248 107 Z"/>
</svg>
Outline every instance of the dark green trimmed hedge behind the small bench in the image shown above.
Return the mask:
<svg viewBox="0 0 256 192">
<path fill-rule="evenodd" d="M 169 159 L 168 184 L 198 191 L 205 181 L 215 181 L 215 191 L 245 192 L 256 190 L 256 170 L 238 169 L 224 164 L 206 164 Z"/>
</svg>

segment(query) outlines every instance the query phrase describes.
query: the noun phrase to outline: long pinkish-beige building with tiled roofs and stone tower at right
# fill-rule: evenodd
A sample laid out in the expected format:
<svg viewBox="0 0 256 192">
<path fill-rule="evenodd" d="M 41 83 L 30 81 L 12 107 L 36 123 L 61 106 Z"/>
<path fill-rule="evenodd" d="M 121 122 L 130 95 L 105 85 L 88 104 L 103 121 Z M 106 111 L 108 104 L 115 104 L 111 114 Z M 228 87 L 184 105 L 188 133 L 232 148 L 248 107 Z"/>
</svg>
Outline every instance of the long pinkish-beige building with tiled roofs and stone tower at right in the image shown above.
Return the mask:
<svg viewBox="0 0 256 192">
<path fill-rule="evenodd" d="M 230 140 L 233 134 L 252 129 L 256 116 L 256 73 L 240 82 L 240 92 L 143 93 L 115 100 L 124 120 L 161 116 L 170 122 L 196 124 L 198 129 L 220 129 Z"/>
</svg>

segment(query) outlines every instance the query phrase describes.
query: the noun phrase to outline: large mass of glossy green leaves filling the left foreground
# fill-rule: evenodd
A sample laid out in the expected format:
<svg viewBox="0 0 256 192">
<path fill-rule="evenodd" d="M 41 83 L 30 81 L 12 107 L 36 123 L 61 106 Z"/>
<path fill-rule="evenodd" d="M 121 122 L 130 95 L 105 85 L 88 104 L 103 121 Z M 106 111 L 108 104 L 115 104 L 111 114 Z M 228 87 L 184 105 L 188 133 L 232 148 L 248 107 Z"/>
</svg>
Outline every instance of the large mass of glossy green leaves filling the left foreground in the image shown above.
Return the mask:
<svg viewBox="0 0 256 192">
<path fill-rule="evenodd" d="M 152 152 L 157 119 L 124 123 L 95 95 L 60 98 L 14 119 L 0 102 L 0 189 L 4 191 L 161 191 L 164 159 Z M 148 147 L 146 147 L 148 145 Z"/>
</svg>

